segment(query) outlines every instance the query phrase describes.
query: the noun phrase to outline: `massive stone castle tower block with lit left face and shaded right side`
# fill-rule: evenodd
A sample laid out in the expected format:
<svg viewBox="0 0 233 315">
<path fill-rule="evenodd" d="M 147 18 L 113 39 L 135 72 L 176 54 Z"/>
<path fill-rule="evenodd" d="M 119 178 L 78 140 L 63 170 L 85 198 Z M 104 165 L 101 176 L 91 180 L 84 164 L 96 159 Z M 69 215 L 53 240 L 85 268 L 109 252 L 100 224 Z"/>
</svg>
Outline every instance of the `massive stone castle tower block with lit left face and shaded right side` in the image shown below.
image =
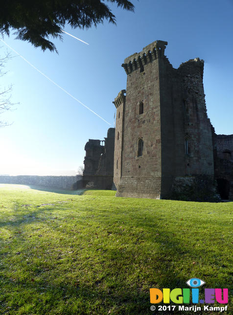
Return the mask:
<svg viewBox="0 0 233 315">
<path fill-rule="evenodd" d="M 189 60 L 175 69 L 164 55 L 166 45 L 155 41 L 122 64 L 127 87 L 113 102 L 116 196 L 179 199 L 205 192 L 212 198 L 213 140 L 204 61 Z"/>
</svg>

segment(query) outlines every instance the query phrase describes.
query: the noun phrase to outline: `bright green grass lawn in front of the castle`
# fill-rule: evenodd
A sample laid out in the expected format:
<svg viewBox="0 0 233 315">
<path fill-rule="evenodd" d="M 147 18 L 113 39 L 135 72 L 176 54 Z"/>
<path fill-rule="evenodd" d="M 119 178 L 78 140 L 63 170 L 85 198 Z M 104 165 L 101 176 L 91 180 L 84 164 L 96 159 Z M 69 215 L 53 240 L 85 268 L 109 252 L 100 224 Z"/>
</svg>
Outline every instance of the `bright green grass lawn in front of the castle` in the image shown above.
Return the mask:
<svg viewBox="0 0 233 315">
<path fill-rule="evenodd" d="M 178 314 L 152 312 L 149 289 L 233 289 L 232 210 L 0 185 L 0 314 Z"/>
</svg>

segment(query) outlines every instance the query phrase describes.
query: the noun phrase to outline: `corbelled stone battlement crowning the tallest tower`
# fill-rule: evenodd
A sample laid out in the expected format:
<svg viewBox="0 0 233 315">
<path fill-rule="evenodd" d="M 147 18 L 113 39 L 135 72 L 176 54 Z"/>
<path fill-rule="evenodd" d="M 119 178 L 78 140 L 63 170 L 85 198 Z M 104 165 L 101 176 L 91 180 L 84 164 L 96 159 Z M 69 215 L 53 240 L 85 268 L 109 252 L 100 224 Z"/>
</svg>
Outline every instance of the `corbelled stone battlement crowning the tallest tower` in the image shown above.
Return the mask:
<svg viewBox="0 0 233 315">
<path fill-rule="evenodd" d="M 164 56 L 166 45 L 167 42 L 155 41 L 144 47 L 141 52 L 136 52 L 126 58 L 121 67 L 125 69 L 126 74 L 130 74 L 136 69 L 140 69 L 142 72 L 146 64 Z"/>
</svg>

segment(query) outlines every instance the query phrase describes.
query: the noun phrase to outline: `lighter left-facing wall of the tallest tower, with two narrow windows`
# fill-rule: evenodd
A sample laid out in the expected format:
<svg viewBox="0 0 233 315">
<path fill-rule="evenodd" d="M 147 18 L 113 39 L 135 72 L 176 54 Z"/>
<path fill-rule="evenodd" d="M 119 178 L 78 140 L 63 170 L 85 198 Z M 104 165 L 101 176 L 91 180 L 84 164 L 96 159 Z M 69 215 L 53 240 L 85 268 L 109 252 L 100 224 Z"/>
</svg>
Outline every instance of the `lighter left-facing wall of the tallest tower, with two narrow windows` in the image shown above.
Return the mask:
<svg viewBox="0 0 233 315">
<path fill-rule="evenodd" d="M 123 126 L 122 174 L 116 196 L 160 198 L 160 48 L 154 42 L 125 59 L 128 74 Z M 163 49 L 164 50 L 164 49 Z M 143 113 L 140 114 L 140 102 Z M 142 156 L 138 156 L 139 140 Z"/>
</svg>

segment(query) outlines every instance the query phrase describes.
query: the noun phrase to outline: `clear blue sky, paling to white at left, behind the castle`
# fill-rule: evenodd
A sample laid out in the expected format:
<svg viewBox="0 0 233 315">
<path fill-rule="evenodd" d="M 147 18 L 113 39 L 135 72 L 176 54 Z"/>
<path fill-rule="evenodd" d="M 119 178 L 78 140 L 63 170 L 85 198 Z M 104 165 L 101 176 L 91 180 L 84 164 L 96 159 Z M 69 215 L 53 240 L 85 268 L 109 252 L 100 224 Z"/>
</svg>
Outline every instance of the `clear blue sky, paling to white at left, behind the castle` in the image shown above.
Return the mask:
<svg viewBox="0 0 233 315">
<path fill-rule="evenodd" d="M 121 67 L 129 55 L 155 40 L 167 41 L 173 67 L 189 59 L 205 60 L 207 110 L 217 134 L 233 134 L 233 0 L 133 0 L 135 13 L 111 6 L 117 25 L 65 31 L 54 40 L 59 54 L 31 44 L 4 41 L 75 98 L 114 125 L 112 101 L 126 88 Z M 2 44 L 0 55 L 6 47 Z M 10 50 L 10 49 L 8 49 Z M 89 138 L 103 139 L 110 127 L 49 82 L 12 52 L 0 88 L 13 84 L 15 111 L 1 114 L 13 122 L 0 129 L 0 174 L 75 175 Z"/>
</svg>

